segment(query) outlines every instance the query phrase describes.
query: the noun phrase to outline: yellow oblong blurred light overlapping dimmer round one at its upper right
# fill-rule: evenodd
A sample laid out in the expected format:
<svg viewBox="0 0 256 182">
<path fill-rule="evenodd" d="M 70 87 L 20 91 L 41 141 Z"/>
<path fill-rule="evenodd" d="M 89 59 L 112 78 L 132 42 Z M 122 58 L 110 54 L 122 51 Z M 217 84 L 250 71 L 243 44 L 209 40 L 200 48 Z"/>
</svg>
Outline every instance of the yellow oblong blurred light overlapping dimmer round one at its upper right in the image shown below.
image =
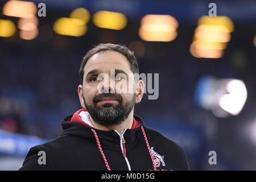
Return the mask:
<svg viewBox="0 0 256 182">
<path fill-rule="evenodd" d="M 53 24 L 53 30 L 60 35 L 82 36 L 87 31 L 87 26 L 81 19 L 59 18 Z"/>
</svg>

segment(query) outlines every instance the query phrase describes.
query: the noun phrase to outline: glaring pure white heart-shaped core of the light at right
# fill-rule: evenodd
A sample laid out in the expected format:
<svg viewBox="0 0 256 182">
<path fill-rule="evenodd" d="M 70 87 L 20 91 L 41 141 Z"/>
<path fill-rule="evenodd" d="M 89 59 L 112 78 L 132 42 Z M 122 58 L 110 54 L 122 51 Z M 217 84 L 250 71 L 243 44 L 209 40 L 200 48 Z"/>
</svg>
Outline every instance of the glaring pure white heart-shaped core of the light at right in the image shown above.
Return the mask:
<svg viewBox="0 0 256 182">
<path fill-rule="evenodd" d="M 228 113 L 237 115 L 241 112 L 247 99 L 245 83 L 241 80 L 231 80 L 226 85 L 226 89 L 229 93 L 221 96 L 218 104 Z"/>
</svg>

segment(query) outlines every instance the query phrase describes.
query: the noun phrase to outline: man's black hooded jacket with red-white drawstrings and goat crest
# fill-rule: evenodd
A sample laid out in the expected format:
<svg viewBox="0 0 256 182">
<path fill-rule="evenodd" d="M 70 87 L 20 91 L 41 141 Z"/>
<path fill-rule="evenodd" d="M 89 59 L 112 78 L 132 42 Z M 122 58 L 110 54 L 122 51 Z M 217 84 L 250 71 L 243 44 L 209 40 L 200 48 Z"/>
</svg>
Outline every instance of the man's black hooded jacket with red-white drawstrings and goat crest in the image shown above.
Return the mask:
<svg viewBox="0 0 256 182">
<path fill-rule="evenodd" d="M 137 115 L 134 118 L 139 126 L 126 129 L 123 136 L 115 130 L 103 131 L 71 122 L 72 116 L 61 122 L 63 132 L 59 137 L 30 148 L 19 170 L 189 169 L 179 144 L 144 126 Z"/>
</svg>

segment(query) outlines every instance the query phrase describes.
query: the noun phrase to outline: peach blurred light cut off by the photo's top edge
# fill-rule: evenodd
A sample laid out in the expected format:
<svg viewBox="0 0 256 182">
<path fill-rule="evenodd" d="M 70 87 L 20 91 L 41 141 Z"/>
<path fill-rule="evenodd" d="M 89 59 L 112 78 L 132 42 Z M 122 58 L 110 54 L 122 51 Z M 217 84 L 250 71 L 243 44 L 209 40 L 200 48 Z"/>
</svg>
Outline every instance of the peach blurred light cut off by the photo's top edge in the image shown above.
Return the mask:
<svg viewBox="0 0 256 182">
<path fill-rule="evenodd" d="M 38 9 L 34 2 L 29 1 L 7 1 L 3 6 L 3 14 L 7 16 L 15 16 L 28 18 L 37 13 Z"/>
</svg>

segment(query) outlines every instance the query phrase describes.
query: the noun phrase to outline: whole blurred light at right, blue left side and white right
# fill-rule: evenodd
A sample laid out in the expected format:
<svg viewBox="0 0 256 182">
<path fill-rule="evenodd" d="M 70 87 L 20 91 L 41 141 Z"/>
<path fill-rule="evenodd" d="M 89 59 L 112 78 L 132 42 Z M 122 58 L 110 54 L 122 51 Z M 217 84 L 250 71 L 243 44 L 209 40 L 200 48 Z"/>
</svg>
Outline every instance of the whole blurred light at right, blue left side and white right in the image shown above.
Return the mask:
<svg viewBox="0 0 256 182">
<path fill-rule="evenodd" d="M 218 118 L 238 115 L 247 100 L 242 80 L 203 76 L 196 86 L 195 102 Z"/>
</svg>

